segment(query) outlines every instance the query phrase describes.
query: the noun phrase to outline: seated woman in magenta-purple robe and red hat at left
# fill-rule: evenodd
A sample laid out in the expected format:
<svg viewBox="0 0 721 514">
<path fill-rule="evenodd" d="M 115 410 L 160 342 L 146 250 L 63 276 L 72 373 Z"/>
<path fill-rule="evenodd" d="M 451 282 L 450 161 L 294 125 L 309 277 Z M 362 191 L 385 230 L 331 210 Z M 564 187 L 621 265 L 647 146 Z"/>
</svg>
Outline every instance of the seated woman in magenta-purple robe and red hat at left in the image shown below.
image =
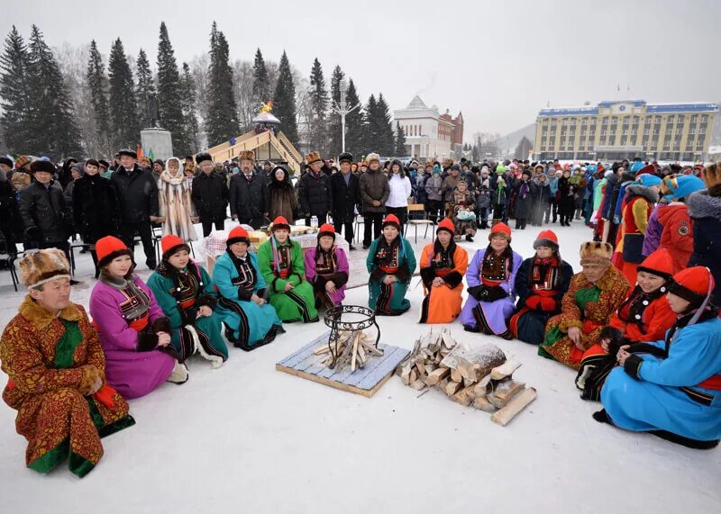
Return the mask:
<svg viewBox="0 0 721 514">
<path fill-rule="evenodd" d="M 100 280 L 90 314 L 105 352 L 105 376 L 125 398 L 139 398 L 165 381 L 184 383 L 187 367 L 170 344 L 170 322 L 155 295 L 132 270 L 132 252 L 106 236 L 96 242 Z"/>
</svg>

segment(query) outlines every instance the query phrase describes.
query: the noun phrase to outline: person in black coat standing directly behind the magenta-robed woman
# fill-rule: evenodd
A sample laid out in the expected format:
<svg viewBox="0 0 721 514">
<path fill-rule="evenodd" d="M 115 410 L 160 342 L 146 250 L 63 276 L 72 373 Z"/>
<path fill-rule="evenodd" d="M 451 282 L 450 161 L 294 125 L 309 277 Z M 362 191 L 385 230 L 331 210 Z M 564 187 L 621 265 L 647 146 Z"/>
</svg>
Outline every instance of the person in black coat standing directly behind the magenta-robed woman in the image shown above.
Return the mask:
<svg viewBox="0 0 721 514">
<path fill-rule="evenodd" d="M 96 242 L 105 236 L 117 236 L 120 230 L 120 204 L 110 179 L 100 176 L 96 159 L 87 159 L 85 175 L 73 184 L 73 219 L 75 230 L 87 245 L 96 266 L 96 278 L 100 275 L 97 266 Z"/>
</svg>

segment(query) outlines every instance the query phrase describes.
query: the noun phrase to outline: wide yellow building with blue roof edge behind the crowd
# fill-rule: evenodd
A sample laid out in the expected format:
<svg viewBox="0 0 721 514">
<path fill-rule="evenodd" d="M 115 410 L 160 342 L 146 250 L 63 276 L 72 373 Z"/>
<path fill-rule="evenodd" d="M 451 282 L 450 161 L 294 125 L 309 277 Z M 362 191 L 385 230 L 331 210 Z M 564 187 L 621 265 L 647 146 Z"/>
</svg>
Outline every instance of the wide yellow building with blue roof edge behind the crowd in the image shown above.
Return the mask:
<svg viewBox="0 0 721 514">
<path fill-rule="evenodd" d="M 534 158 L 701 160 L 717 113 L 716 104 L 643 100 L 543 109 L 536 118 Z"/>
</svg>

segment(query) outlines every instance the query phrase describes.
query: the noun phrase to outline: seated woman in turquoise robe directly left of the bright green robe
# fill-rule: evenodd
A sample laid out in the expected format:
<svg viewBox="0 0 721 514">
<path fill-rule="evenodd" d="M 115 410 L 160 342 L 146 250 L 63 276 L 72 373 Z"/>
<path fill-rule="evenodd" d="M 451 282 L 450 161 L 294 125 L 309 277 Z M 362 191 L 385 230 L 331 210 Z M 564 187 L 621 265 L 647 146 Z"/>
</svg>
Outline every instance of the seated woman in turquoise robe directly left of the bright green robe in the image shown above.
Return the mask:
<svg viewBox="0 0 721 514">
<path fill-rule="evenodd" d="M 225 337 L 235 347 L 251 351 L 285 332 L 283 321 L 266 299 L 258 257 L 248 251 L 248 232 L 235 227 L 225 244 L 228 249 L 213 269 L 213 281 L 220 293 L 217 311 L 227 327 Z"/>
</svg>

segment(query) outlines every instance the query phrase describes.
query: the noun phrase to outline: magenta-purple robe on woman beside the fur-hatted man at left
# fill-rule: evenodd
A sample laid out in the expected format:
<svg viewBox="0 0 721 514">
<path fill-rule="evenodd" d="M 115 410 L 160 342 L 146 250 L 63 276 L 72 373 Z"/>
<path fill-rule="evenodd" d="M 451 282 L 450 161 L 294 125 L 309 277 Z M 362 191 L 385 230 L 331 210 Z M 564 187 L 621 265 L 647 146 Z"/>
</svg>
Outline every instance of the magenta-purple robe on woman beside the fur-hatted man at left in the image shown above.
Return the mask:
<svg viewBox="0 0 721 514">
<path fill-rule="evenodd" d="M 165 317 L 150 288 L 137 276 L 135 284 L 151 299 L 150 322 Z M 120 305 L 127 298 L 110 284 L 98 281 L 90 294 L 90 314 L 105 353 L 105 378 L 124 398 L 139 398 L 165 382 L 175 359 L 158 350 L 138 352 L 138 332 L 123 318 Z"/>
</svg>

